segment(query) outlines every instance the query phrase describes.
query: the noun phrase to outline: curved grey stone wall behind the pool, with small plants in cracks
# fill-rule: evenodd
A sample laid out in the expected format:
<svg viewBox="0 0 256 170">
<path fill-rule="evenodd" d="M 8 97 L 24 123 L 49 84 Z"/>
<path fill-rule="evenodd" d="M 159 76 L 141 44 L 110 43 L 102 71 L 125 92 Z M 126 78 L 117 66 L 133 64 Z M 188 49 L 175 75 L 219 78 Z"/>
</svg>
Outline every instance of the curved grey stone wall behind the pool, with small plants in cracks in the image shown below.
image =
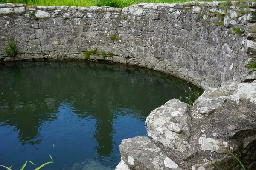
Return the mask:
<svg viewBox="0 0 256 170">
<path fill-rule="evenodd" d="M 195 85 L 251 81 L 256 3 L 144 3 L 121 8 L 0 4 L 0 60 L 107 60 L 166 72 Z M 14 37 L 18 55 L 4 46 Z M 87 55 L 88 56 L 88 55 Z"/>
</svg>

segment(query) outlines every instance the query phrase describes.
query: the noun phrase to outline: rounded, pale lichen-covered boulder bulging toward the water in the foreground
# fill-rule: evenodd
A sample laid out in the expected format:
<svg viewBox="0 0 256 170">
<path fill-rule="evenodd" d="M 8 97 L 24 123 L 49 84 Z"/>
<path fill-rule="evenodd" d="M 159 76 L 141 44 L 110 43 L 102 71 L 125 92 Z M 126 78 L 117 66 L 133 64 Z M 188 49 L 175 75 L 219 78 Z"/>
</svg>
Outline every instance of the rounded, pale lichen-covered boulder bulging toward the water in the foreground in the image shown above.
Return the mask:
<svg viewBox="0 0 256 170">
<path fill-rule="evenodd" d="M 189 149 L 187 140 L 191 122 L 187 111 L 188 104 L 178 99 L 172 99 L 156 108 L 145 122 L 148 136 L 173 150 L 183 152 Z"/>
</svg>

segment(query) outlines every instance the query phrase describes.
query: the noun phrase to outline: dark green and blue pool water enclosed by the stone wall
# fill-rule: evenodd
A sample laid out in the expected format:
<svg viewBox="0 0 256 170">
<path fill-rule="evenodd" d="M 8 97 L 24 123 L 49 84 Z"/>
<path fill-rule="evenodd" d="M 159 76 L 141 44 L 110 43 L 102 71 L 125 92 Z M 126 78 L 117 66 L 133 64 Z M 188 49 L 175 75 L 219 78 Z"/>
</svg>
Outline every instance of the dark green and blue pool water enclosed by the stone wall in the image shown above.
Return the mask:
<svg viewBox="0 0 256 170">
<path fill-rule="evenodd" d="M 113 170 L 122 139 L 146 135 L 146 116 L 189 86 L 127 65 L 8 64 L 0 65 L 0 164 L 13 170 L 27 160 L 36 166 L 25 170 L 35 169 L 49 154 L 54 164 L 42 170 Z"/>
</svg>

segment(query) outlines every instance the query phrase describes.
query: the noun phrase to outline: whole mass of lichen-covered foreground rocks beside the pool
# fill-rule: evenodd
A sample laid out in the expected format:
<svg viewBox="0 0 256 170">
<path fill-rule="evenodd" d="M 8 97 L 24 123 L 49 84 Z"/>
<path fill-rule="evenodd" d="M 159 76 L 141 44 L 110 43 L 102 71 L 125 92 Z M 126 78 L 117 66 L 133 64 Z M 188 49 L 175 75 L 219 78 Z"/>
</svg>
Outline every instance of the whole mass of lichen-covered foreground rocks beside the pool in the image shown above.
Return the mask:
<svg viewBox="0 0 256 170">
<path fill-rule="evenodd" d="M 172 99 L 152 111 L 145 125 L 155 145 L 151 148 L 141 139 L 137 142 L 138 138 L 123 140 L 120 151 L 128 167 L 128 155 L 140 152 L 140 164 L 150 164 L 153 157 L 143 153 L 154 155 L 149 151 L 161 150 L 183 170 L 241 169 L 229 152 L 238 156 L 247 170 L 256 169 L 255 82 L 229 81 L 220 88 L 207 88 L 190 108 Z M 143 144 L 147 149 L 139 150 Z"/>
</svg>

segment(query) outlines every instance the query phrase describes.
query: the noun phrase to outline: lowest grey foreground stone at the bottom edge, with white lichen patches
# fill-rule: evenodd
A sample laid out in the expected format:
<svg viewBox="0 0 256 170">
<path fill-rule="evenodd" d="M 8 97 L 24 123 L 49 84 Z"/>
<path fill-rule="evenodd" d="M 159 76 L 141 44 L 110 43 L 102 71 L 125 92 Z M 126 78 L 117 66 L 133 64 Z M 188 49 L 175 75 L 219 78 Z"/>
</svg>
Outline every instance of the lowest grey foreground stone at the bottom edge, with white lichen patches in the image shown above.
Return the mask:
<svg viewBox="0 0 256 170">
<path fill-rule="evenodd" d="M 130 169 L 182 170 L 147 136 L 124 139 L 119 148 L 122 159 Z"/>
</svg>

